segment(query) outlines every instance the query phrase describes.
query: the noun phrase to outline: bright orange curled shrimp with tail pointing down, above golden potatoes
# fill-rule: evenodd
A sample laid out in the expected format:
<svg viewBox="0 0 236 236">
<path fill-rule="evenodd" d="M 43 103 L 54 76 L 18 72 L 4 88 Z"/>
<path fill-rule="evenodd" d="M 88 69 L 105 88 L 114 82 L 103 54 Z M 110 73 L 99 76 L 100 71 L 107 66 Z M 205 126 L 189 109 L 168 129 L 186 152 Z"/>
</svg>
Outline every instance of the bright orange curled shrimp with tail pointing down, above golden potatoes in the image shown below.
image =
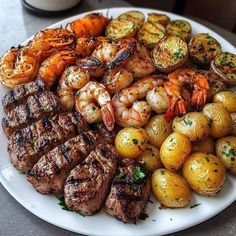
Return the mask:
<svg viewBox="0 0 236 236">
<path fill-rule="evenodd" d="M 171 98 L 170 106 L 166 112 L 165 119 L 170 121 L 174 115 L 183 115 L 186 113 L 188 101 L 181 95 L 181 88 L 189 84 L 193 87 L 191 104 L 196 110 L 206 103 L 209 83 L 207 77 L 193 68 L 180 68 L 167 76 L 167 82 L 164 87 Z"/>
</svg>

